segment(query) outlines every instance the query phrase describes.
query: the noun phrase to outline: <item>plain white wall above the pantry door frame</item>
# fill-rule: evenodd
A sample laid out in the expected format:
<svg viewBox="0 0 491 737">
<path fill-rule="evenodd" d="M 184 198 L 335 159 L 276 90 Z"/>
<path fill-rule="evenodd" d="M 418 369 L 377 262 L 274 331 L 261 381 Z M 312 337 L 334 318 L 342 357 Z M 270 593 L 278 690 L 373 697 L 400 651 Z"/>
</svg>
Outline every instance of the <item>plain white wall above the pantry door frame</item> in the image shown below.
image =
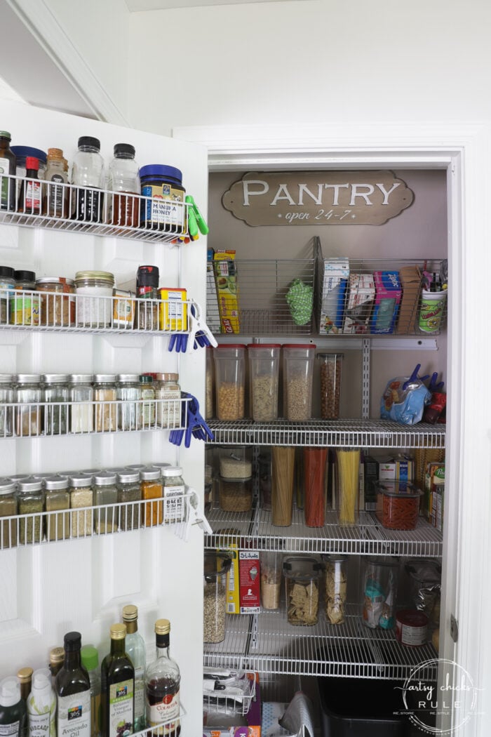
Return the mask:
<svg viewBox="0 0 491 737">
<path fill-rule="evenodd" d="M 303 0 L 130 15 L 133 125 L 489 119 L 485 0 Z M 153 72 L 153 73 L 152 73 Z"/>
</svg>

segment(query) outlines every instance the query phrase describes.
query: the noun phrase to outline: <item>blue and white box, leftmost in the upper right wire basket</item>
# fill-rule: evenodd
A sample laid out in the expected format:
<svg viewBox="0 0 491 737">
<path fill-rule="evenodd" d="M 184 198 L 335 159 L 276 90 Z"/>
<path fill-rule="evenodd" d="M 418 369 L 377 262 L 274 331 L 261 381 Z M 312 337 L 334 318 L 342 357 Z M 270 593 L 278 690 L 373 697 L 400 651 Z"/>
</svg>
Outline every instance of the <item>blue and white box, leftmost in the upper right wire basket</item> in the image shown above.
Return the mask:
<svg viewBox="0 0 491 737">
<path fill-rule="evenodd" d="M 322 304 L 319 321 L 321 335 L 340 332 L 345 312 L 350 262 L 344 256 L 323 259 Z"/>
</svg>

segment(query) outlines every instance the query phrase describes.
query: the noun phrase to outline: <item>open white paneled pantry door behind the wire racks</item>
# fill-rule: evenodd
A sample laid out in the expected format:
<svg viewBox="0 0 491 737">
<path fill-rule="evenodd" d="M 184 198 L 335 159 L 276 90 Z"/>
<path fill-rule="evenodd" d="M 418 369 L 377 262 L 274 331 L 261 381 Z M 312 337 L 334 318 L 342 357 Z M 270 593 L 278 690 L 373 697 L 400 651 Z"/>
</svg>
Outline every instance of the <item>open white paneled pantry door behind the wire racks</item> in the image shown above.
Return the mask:
<svg viewBox="0 0 491 737">
<path fill-rule="evenodd" d="M 79 136 L 96 136 L 107 167 L 113 145 L 135 146 L 145 164 L 169 164 L 183 172 L 183 185 L 202 212 L 207 210 L 208 168 L 204 147 L 149 133 L 68 116 L 29 105 L 2 104 L 1 130 L 13 145 L 63 149 L 69 164 Z M 134 289 L 138 265 L 158 265 L 160 286 L 186 287 L 205 305 L 206 240 L 173 246 L 70 231 L 0 224 L 0 265 L 36 276 L 74 278 L 77 270 L 107 270 L 122 288 Z M 205 355 L 179 357 L 165 337 L 23 332 L 1 329 L 0 373 L 141 373 L 176 371 L 180 385 L 203 402 Z M 193 440 L 184 450 L 169 444 L 167 431 L 110 436 L 0 439 L 0 476 L 58 472 L 166 461 L 183 466 L 183 476 L 202 503 L 204 448 Z M 108 652 L 109 627 L 121 621 L 124 604 L 138 606 L 147 657 L 155 653 L 155 620 L 171 621 L 171 651 L 182 674 L 183 730 L 202 730 L 202 531 L 188 542 L 156 528 L 30 545 L 0 551 L 0 678 L 22 666 L 48 663 L 49 649 L 63 645 L 70 630 L 82 633 L 99 658 Z"/>
</svg>

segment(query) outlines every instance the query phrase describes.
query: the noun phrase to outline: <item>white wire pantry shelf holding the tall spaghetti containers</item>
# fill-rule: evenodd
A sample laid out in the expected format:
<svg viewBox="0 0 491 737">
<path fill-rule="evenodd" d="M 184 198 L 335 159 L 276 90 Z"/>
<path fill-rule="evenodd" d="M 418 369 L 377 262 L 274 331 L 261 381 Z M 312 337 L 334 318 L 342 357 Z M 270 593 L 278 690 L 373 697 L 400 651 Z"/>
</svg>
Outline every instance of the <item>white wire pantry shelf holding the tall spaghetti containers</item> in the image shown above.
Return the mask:
<svg viewBox="0 0 491 737">
<path fill-rule="evenodd" d="M 360 512 L 353 527 L 339 525 L 336 511 L 326 513 L 322 528 L 307 527 L 303 510 L 298 509 L 287 528 L 273 525 L 271 513 L 264 509 L 250 513 L 211 509 L 208 522 L 213 534 L 205 536 L 207 548 L 228 548 L 239 539 L 242 547 L 282 553 L 441 558 L 443 550 L 442 533 L 423 517 L 414 530 L 404 531 L 387 530 L 366 511 Z"/>
</svg>

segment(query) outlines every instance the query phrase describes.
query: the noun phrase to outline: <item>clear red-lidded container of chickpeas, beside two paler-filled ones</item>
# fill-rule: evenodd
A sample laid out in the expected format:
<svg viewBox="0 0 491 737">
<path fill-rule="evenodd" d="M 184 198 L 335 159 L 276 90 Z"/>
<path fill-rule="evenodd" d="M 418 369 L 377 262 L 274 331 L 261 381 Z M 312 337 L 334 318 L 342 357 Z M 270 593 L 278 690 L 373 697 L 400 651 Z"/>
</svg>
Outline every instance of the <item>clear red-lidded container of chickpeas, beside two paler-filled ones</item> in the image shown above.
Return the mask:
<svg viewBox="0 0 491 737">
<path fill-rule="evenodd" d="M 218 419 L 244 419 L 245 351 L 246 346 L 231 343 L 214 351 Z"/>
</svg>

